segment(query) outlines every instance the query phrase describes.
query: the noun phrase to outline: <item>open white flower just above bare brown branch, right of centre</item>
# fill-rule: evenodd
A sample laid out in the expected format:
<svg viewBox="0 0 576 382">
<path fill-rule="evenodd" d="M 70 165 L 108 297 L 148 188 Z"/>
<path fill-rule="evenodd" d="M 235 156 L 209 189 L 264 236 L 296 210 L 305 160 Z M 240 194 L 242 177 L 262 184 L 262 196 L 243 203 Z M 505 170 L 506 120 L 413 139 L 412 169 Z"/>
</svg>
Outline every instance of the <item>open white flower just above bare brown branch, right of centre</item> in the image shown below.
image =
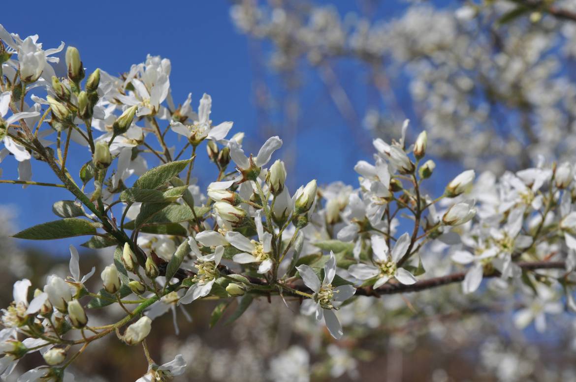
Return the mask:
<svg viewBox="0 0 576 382">
<path fill-rule="evenodd" d="M 399 268 L 396 264 L 406 254 L 410 246 L 410 235 L 408 232 L 400 236 L 394 245 L 392 252 L 389 253 L 386 240 L 380 235 L 372 235 L 370 239 L 372 242 L 372 251 L 376 259 L 374 265 L 369 264 L 354 264 L 348 268 L 348 272 L 358 278 L 358 280 L 369 280 L 373 277 L 378 277 L 374 283 L 374 289 L 380 288 L 391 277 L 396 278 L 401 284 L 411 285 L 417 280 L 404 268 Z"/>
</svg>

